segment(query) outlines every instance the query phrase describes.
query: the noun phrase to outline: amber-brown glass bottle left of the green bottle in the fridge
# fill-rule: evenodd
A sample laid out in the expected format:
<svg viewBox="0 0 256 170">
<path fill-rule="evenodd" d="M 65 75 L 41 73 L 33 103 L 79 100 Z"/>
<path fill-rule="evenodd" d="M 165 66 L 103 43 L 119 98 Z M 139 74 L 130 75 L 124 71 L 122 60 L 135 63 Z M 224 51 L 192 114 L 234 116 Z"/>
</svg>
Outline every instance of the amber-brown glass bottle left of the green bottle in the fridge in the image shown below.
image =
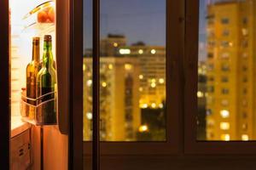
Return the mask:
<svg viewBox="0 0 256 170">
<path fill-rule="evenodd" d="M 40 38 L 33 37 L 32 40 L 32 61 L 26 66 L 26 99 L 27 103 L 37 105 L 37 75 L 40 70 Z M 34 107 L 28 107 L 26 116 L 33 119 Z"/>
</svg>

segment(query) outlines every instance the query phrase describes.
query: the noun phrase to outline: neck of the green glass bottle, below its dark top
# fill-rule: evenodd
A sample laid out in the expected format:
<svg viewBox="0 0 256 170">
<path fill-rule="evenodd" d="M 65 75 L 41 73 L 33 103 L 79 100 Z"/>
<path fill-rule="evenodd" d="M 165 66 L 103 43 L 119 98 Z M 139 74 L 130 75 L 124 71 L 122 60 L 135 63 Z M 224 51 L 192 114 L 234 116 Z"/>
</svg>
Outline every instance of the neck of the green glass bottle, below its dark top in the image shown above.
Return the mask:
<svg viewBox="0 0 256 170">
<path fill-rule="evenodd" d="M 46 69 L 53 68 L 52 42 L 44 42 L 43 66 Z"/>
</svg>

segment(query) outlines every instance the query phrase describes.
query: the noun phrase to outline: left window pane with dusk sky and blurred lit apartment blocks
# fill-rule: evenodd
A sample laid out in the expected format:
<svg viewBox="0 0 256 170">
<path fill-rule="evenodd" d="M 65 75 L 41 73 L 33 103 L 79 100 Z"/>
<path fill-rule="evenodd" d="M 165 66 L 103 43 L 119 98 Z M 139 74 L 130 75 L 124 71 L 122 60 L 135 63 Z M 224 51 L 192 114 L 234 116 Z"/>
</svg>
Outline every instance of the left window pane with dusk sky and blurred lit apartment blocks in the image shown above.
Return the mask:
<svg viewBox="0 0 256 170">
<path fill-rule="evenodd" d="M 100 29 L 101 140 L 166 140 L 166 1 L 101 1 Z M 91 55 L 84 47 L 84 140 L 91 139 Z"/>
</svg>

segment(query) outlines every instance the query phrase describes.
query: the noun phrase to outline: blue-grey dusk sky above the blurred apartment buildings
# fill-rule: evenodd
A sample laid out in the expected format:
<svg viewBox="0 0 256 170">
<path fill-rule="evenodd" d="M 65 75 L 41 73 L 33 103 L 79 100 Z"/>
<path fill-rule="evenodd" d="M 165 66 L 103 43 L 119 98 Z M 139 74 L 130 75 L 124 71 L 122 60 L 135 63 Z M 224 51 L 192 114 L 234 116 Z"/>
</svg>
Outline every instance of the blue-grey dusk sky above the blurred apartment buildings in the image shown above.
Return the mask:
<svg viewBox="0 0 256 170">
<path fill-rule="evenodd" d="M 199 59 L 206 56 L 207 3 L 200 0 Z M 108 33 L 122 34 L 128 44 L 143 41 L 150 45 L 166 44 L 166 0 L 102 0 L 101 38 Z M 92 0 L 84 0 L 84 49 L 92 42 Z"/>
</svg>

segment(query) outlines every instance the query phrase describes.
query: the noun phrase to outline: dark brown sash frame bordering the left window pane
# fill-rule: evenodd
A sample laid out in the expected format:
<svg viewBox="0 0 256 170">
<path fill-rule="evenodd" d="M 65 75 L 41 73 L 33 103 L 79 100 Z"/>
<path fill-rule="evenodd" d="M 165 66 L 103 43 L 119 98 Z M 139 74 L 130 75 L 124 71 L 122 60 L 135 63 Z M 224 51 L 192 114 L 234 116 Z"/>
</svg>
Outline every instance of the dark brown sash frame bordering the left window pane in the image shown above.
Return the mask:
<svg viewBox="0 0 256 170">
<path fill-rule="evenodd" d="M 183 57 L 181 56 L 183 55 L 183 7 L 183 0 L 166 0 L 166 141 L 104 141 L 101 142 L 102 156 L 170 155 L 182 152 Z M 99 46 L 99 44 L 97 45 Z M 85 156 L 92 153 L 91 143 L 84 141 L 83 151 Z"/>
</svg>

